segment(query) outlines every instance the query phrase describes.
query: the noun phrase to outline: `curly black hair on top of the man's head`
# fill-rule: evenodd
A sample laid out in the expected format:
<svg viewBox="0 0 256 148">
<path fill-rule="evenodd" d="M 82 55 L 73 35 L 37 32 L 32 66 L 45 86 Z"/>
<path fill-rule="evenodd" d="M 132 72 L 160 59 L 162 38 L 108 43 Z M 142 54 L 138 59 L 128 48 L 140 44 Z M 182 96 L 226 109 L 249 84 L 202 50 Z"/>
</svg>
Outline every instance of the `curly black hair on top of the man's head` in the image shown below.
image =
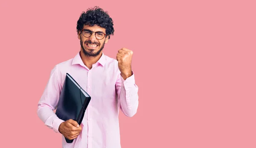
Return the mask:
<svg viewBox="0 0 256 148">
<path fill-rule="evenodd" d="M 87 9 L 86 13 L 82 12 L 79 20 L 77 21 L 77 33 L 81 31 L 84 25 L 100 26 L 106 29 L 106 34 L 114 35 L 113 20 L 109 17 L 108 12 L 104 12 L 103 9 L 95 6 L 93 9 Z"/>
</svg>

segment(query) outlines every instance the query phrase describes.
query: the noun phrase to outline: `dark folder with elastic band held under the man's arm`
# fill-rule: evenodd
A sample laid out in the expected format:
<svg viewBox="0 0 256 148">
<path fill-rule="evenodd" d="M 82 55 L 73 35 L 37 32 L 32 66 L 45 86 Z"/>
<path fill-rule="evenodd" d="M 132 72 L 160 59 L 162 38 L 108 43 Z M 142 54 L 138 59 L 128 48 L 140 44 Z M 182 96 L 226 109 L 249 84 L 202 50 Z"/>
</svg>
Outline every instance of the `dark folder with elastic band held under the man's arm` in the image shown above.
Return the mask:
<svg viewBox="0 0 256 148">
<path fill-rule="evenodd" d="M 55 114 L 59 119 L 64 121 L 73 119 L 80 125 L 90 99 L 91 97 L 67 73 Z M 65 140 L 67 143 L 73 142 L 66 137 Z"/>
</svg>

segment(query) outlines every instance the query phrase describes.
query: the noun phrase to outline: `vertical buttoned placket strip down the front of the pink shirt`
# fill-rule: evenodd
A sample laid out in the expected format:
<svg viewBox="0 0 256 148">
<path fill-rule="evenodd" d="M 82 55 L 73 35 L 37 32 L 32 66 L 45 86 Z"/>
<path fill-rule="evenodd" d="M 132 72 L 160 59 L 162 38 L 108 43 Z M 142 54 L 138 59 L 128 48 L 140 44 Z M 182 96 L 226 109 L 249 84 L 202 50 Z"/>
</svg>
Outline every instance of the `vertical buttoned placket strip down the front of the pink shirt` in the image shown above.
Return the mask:
<svg viewBox="0 0 256 148">
<path fill-rule="evenodd" d="M 92 94 L 92 74 L 91 74 L 91 70 L 88 71 L 87 73 L 87 93 L 91 96 Z M 92 113 L 91 113 L 91 110 L 92 110 L 92 106 L 91 106 L 91 103 L 89 103 L 88 107 L 87 107 L 87 125 L 88 125 L 88 148 L 92 148 Z"/>
</svg>

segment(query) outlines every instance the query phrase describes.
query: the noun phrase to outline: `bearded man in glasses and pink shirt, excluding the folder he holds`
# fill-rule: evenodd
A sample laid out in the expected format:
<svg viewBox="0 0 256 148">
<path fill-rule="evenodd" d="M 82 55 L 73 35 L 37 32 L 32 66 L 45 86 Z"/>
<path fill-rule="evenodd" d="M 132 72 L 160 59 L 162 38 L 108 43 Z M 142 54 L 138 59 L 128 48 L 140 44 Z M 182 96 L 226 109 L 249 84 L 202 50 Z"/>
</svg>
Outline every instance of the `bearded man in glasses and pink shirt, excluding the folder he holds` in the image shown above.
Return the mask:
<svg viewBox="0 0 256 148">
<path fill-rule="evenodd" d="M 38 103 L 38 116 L 45 125 L 62 134 L 65 148 L 121 148 L 119 109 L 131 117 L 138 108 L 138 87 L 131 70 L 133 52 L 119 49 L 116 60 L 103 54 L 114 29 L 111 17 L 99 7 L 83 12 L 76 29 L 81 50 L 52 69 Z M 66 73 L 91 96 L 81 125 L 72 119 L 63 121 L 53 112 Z M 74 140 L 67 143 L 64 137 Z"/>
</svg>

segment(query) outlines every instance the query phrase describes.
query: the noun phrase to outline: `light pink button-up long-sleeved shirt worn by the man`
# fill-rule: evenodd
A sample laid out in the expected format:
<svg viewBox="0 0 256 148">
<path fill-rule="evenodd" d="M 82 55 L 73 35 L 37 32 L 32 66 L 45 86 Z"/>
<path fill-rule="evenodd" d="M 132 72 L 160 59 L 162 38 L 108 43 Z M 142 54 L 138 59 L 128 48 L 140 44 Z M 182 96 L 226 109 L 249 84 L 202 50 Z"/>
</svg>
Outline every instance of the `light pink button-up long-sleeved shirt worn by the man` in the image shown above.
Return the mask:
<svg viewBox="0 0 256 148">
<path fill-rule="evenodd" d="M 63 120 L 53 110 L 69 73 L 91 96 L 81 123 L 82 131 L 72 143 L 62 135 L 63 148 L 121 148 L 119 109 L 126 116 L 134 116 L 138 108 L 138 87 L 134 72 L 124 80 L 118 62 L 102 53 L 91 69 L 87 68 L 78 53 L 74 58 L 55 65 L 38 103 L 38 117 L 55 132 Z"/>
</svg>

